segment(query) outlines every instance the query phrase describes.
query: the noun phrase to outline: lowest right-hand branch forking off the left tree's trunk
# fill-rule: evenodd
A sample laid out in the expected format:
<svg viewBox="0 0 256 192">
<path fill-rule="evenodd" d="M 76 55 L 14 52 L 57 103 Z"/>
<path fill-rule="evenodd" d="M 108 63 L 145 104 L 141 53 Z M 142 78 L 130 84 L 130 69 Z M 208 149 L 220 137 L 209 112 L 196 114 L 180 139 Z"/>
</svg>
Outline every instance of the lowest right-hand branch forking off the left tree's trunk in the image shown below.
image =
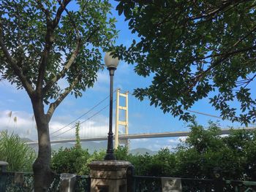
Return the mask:
<svg viewBox="0 0 256 192">
<path fill-rule="evenodd" d="M 50 121 L 50 118 L 53 116 L 53 112 L 56 110 L 56 108 L 59 106 L 61 101 L 65 99 L 65 97 L 72 91 L 72 89 L 75 87 L 75 85 L 78 83 L 80 74 L 78 74 L 77 77 L 75 77 L 75 80 L 72 82 L 71 85 L 69 85 L 68 88 L 65 88 L 65 91 L 61 93 L 58 99 L 50 104 L 50 107 L 47 112 L 48 121 Z"/>
</svg>

